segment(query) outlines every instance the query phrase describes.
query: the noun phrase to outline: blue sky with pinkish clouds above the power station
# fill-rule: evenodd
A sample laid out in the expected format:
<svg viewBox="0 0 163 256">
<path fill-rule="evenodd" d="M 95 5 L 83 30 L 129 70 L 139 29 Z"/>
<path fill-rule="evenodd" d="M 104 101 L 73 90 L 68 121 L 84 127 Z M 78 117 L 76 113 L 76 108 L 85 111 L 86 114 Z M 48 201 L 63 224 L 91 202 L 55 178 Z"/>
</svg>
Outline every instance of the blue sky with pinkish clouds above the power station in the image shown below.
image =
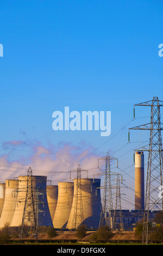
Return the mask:
<svg viewBox="0 0 163 256">
<path fill-rule="evenodd" d="M 132 131 L 128 143 L 128 128 L 150 118 L 137 107 L 133 120 L 134 104 L 163 100 L 162 15 L 161 0 L 1 1 L 1 182 L 31 166 L 55 184 L 109 151 L 133 192 L 133 149 L 149 134 Z M 52 113 L 65 106 L 111 111 L 111 135 L 54 131 Z"/>
</svg>

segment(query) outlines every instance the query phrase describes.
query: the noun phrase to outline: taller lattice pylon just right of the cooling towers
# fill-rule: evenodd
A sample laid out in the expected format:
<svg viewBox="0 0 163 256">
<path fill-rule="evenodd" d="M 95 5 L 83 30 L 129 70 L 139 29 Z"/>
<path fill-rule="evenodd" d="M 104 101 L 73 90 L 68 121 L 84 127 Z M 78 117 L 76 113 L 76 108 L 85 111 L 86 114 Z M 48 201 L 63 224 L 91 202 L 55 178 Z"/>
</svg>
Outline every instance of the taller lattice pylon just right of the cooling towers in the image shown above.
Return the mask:
<svg viewBox="0 0 163 256">
<path fill-rule="evenodd" d="M 99 227 L 104 225 L 108 225 L 112 229 L 112 217 L 113 217 L 113 204 L 112 204 L 112 191 L 111 191 L 111 172 L 110 172 L 110 160 L 117 160 L 114 157 L 109 156 L 109 152 L 106 153 L 105 157 L 98 159 L 98 167 L 99 160 L 105 160 L 105 172 L 99 173 L 97 175 L 105 175 L 104 186 L 99 188 L 103 188 L 103 204 L 101 217 L 99 221 Z"/>
</svg>

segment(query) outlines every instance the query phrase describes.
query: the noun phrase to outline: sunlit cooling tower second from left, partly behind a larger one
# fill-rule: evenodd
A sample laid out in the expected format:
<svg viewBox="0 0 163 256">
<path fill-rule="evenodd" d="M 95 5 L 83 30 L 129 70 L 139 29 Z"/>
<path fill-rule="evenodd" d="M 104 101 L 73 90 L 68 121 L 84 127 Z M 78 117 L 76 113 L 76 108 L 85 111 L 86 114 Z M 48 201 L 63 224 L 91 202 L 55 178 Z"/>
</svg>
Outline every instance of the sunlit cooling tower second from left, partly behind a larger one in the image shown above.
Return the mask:
<svg viewBox="0 0 163 256">
<path fill-rule="evenodd" d="M 5 180 L 5 199 L 0 218 L 0 228 L 3 228 L 5 224 L 11 224 L 17 204 L 18 193 L 15 191 L 17 188 L 18 180 Z"/>
</svg>

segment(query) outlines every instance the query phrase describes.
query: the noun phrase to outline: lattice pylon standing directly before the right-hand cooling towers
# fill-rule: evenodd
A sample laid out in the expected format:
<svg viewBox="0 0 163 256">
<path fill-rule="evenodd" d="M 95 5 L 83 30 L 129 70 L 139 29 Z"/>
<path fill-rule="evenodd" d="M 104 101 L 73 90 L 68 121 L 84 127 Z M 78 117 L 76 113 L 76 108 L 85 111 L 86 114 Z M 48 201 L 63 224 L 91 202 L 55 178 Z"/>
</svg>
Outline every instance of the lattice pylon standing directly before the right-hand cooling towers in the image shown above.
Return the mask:
<svg viewBox="0 0 163 256">
<path fill-rule="evenodd" d="M 80 164 L 78 164 L 78 168 L 76 170 L 71 170 L 70 175 L 71 175 L 71 172 L 73 171 L 77 172 L 76 194 L 74 196 L 75 197 L 74 215 L 72 220 L 72 229 L 76 230 L 76 228 L 82 225 L 84 221 L 81 172 L 82 171 L 87 172 L 87 170 L 81 169 Z"/>
</svg>

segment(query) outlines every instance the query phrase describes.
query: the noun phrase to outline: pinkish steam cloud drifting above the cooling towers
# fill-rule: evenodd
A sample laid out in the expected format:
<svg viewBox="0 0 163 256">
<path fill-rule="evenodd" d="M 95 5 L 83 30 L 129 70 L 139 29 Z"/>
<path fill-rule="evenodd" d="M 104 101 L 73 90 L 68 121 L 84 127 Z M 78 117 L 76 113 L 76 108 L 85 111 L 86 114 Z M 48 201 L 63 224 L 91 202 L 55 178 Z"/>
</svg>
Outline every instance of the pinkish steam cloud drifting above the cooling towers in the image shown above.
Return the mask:
<svg viewBox="0 0 163 256">
<path fill-rule="evenodd" d="M 89 178 L 93 178 L 93 174 L 99 172 L 97 159 L 101 156 L 95 153 L 90 154 L 93 151 L 91 146 L 84 149 L 72 143 L 61 142 L 58 145 L 49 143 L 45 147 L 39 141 L 32 142 L 30 146 L 29 141 L 10 141 L 4 142 L 3 146 L 24 144 L 28 145 L 27 151 L 23 147 L 21 152 L 20 147 L 18 147 L 20 154 L 19 151 L 16 151 L 15 160 L 9 161 L 11 150 L 0 157 L 1 182 L 19 175 L 27 175 L 29 167 L 32 168 L 33 175 L 47 176 L 53 185 L 57 185 L 61 181 L 72 181 L 70 180 L 70 170 L 77 169 L 78 163 L 82 169 L 89 170 Z M 14 154 L 13 151 L 12 154 Z M 82 172 L 82 176 L 85 178 L 86 172 L 85 174 Z M 71 178 L 76 178 L 75 172 Z"/>
</svg>

